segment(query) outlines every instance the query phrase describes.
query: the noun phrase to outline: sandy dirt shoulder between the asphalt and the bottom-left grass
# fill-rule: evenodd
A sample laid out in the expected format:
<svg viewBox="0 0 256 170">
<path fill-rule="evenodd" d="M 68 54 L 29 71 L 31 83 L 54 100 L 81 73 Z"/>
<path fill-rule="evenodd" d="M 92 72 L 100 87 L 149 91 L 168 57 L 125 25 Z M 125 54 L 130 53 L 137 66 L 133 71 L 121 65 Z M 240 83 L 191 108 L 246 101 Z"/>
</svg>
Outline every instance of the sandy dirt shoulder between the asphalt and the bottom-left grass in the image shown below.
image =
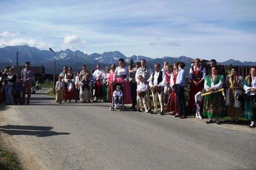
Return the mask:
<svg viewBox="0 0 256 170">
<path fill-rule="evenodd" d="M 3 112 L 0 111 L 0 126 L 7 125 L 3 117 Z M 11 153 L 15 153 L 19 165 L 24 170 L 42 170 L 42 164 L 36 157 L 33 156 L 31 152 L 28 152 L 26 148 L 20 146 L 18 142 L 15 141 L 13 136 L 1 132 L 0 128 L 0 145 Z"/>
</svg>

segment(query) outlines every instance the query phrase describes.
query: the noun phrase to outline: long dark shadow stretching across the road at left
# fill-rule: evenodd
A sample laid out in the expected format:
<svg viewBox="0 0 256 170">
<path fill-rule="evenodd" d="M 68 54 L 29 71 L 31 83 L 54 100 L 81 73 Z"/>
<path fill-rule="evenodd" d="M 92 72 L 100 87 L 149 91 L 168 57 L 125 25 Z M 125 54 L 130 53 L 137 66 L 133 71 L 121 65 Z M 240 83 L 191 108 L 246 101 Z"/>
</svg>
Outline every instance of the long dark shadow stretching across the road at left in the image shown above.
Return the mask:
<svg viewBox="0 0 256 170">
<path fill-rule="evenodd" d="M 4 125 L 0 126 L 0 132 L 8 135 L 32 135 L 37 137 L 70 135 L 70 133 L 50 131 L 53 127 L 44 126 L 21 126 L 21 125 Z"/>
</svg>

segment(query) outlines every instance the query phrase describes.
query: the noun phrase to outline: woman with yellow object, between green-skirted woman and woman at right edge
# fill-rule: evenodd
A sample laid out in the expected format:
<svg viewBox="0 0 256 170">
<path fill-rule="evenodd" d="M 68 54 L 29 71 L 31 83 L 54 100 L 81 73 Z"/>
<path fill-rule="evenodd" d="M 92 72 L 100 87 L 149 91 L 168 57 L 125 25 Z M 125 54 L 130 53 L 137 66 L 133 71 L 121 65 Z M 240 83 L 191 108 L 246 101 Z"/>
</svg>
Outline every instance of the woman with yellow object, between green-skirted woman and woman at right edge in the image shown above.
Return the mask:
<svg viewBox="0 0 256 170">
<path fill-rule="evenodd" d="M 238 74 L 237 67 L 231 68 L 231 74 L 226 77 L 225 87 L 228 116 L 231 117 L 230 123 L 238 123 L 238 117 L 242 114 L 242 104 L 235 96 L 237 93 L 243 94 L 243 77 Z"/>
</svg>

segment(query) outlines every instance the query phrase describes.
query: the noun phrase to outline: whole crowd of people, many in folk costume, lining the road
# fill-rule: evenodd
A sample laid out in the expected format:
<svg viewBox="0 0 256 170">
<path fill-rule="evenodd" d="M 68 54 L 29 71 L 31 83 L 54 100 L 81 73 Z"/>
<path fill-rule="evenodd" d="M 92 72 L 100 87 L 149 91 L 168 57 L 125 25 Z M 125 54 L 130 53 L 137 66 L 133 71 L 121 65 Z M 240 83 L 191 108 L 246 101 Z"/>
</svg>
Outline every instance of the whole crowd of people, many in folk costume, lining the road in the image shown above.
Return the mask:
<svg viewBox="0 0 256 170">
<path fill-rule="evenodd" d="M 210 61 L 211 69 L 207 72 L 200 59 L 195 59 L 188 77 L 191 81 L 189 88 L 188 106 L 186 106 L 185 86 L 187 83 L 185 63 L 176 61 L 173 64 L 156 63 L 154 71 L 146 66 L 146 60 L 136 63 L 136 67 L 126 65 L 123 58 L 118 61 L 119 66 L 101 69 L 97 64 L 96 70 L 73 72 L 71 67 L 64 66 L 56 82 L 56 102 L 62 103 L 75 100 L 87 102 L 113 102 L 115 108 L 123 104 L 131 104 L 130 109 L 139 112 L 170 115 L 187 118 L 188 112 L 195 112 L 196 118 L 208 117 L 206 123 L 220 124 L 219 118 L 224 116 L 224 106 L 231 117 L 230 123 L 239 123 L 238 118 L 251 120 L 249 127 L 255 127 L 256 119 L 256 67 L 252 66 L 250 75 L 243 78 L 238 74 L 238 68 L 231 67 L 230 74 L 225 77 L 221 67 L 217 67 L 214 59 Z M 1 94 L 5 92 L 6 104 L 25 104 L 25 91 L 28 90 L 26 104 L 30 104 L 30 88 L 34 80 L 30 63 L 21 76 L 15 74 L 14 67 L 6 67 L 0 72 Z M 113 85 L 120 85 L 113 89 Z M 225 91 L 225 93 L 224 93 Z M 13 98 L 13 93 L 15 98 Z M 152 95 L 152 106 L 151 98 Z M 22 97 L 21 97 L 22 96 Z M 3 101 L 3 95 L 0 96 Z M 158 108 L 158 102 L 160 108 Z M 143 109 L 144 107 L 144 109 Z M 188 108 L 188 110 L 186 110 Z M 203 111 L 201 113 L 201 111 Z M 213 121 L 215 118 L 215 121 Z"/>
</svg>

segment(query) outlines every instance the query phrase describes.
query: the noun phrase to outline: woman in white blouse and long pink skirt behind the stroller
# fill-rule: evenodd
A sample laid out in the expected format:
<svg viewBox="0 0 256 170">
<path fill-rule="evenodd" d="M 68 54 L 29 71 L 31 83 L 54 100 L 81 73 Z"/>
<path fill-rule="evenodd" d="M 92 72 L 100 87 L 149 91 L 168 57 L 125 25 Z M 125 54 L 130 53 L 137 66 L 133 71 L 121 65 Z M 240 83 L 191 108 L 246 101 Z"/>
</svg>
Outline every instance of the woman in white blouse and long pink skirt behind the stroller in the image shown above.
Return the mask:
<svg viewBox="0 0 256 170">
<path fill-rule="evenodd" d="M 129 83 L 129 71 L 128 67 L 125 67 L 125 60 L 123 58 L 119 59 L 119 67 L 115 69 L 113 76 L 114 82 L 123 83 L 123 103 L 131 104 L 131 89 Z"/>
</svg>

